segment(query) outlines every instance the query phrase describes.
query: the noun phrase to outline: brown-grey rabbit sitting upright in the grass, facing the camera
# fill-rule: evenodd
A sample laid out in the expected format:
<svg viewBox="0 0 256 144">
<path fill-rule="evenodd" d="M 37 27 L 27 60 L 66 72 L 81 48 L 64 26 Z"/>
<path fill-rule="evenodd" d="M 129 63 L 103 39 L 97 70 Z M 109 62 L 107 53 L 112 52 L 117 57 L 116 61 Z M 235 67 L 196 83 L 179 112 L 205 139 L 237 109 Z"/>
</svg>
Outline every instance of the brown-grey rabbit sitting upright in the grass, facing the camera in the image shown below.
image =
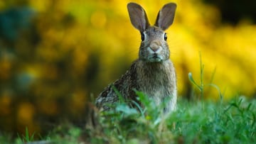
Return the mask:
<svg viewBox="0 0 256 144">
<path fill-rule="evenodd" d="M 109 110 L 109 105 L 119 101 L 119 96 L 125 100 L 137 101 L 136 89 L 143 92 L 149 99 L 159 106 L 166 97 L 164 111 L 175 111 L 177 100 L 176 70 L 169 59 L 170 50 L 167 44 L 167 35 L 164 32 L 174 22 L 176 4 L 165 4 L 159 11 L 154 26 L 150 26 L 146 12 L 136 3 L 127 4 L 129 18 L 142 35 L 142 43 L 139 48 L 139 58 L 132 66 L 114 83 L 105 88 L 96 99 L 96 106 L 101 111 Z"/>
</svg>

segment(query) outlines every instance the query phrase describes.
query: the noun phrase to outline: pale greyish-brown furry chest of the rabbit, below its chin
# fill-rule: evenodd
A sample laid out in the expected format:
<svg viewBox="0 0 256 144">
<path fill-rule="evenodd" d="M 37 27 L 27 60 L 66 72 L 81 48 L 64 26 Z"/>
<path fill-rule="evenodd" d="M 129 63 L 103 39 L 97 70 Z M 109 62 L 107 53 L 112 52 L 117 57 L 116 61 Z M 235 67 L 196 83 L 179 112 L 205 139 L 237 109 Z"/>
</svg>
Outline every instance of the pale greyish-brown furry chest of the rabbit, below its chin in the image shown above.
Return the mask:
<svg viewBox="0 0 256 144">
<path fill-rule="evenodd" d="M 164 62 L 137 62 L 138 90 L 144 92 L 156 105 L 166 96 L 176 100 L 176 73 L 170 60 Z"/>
</svg>

